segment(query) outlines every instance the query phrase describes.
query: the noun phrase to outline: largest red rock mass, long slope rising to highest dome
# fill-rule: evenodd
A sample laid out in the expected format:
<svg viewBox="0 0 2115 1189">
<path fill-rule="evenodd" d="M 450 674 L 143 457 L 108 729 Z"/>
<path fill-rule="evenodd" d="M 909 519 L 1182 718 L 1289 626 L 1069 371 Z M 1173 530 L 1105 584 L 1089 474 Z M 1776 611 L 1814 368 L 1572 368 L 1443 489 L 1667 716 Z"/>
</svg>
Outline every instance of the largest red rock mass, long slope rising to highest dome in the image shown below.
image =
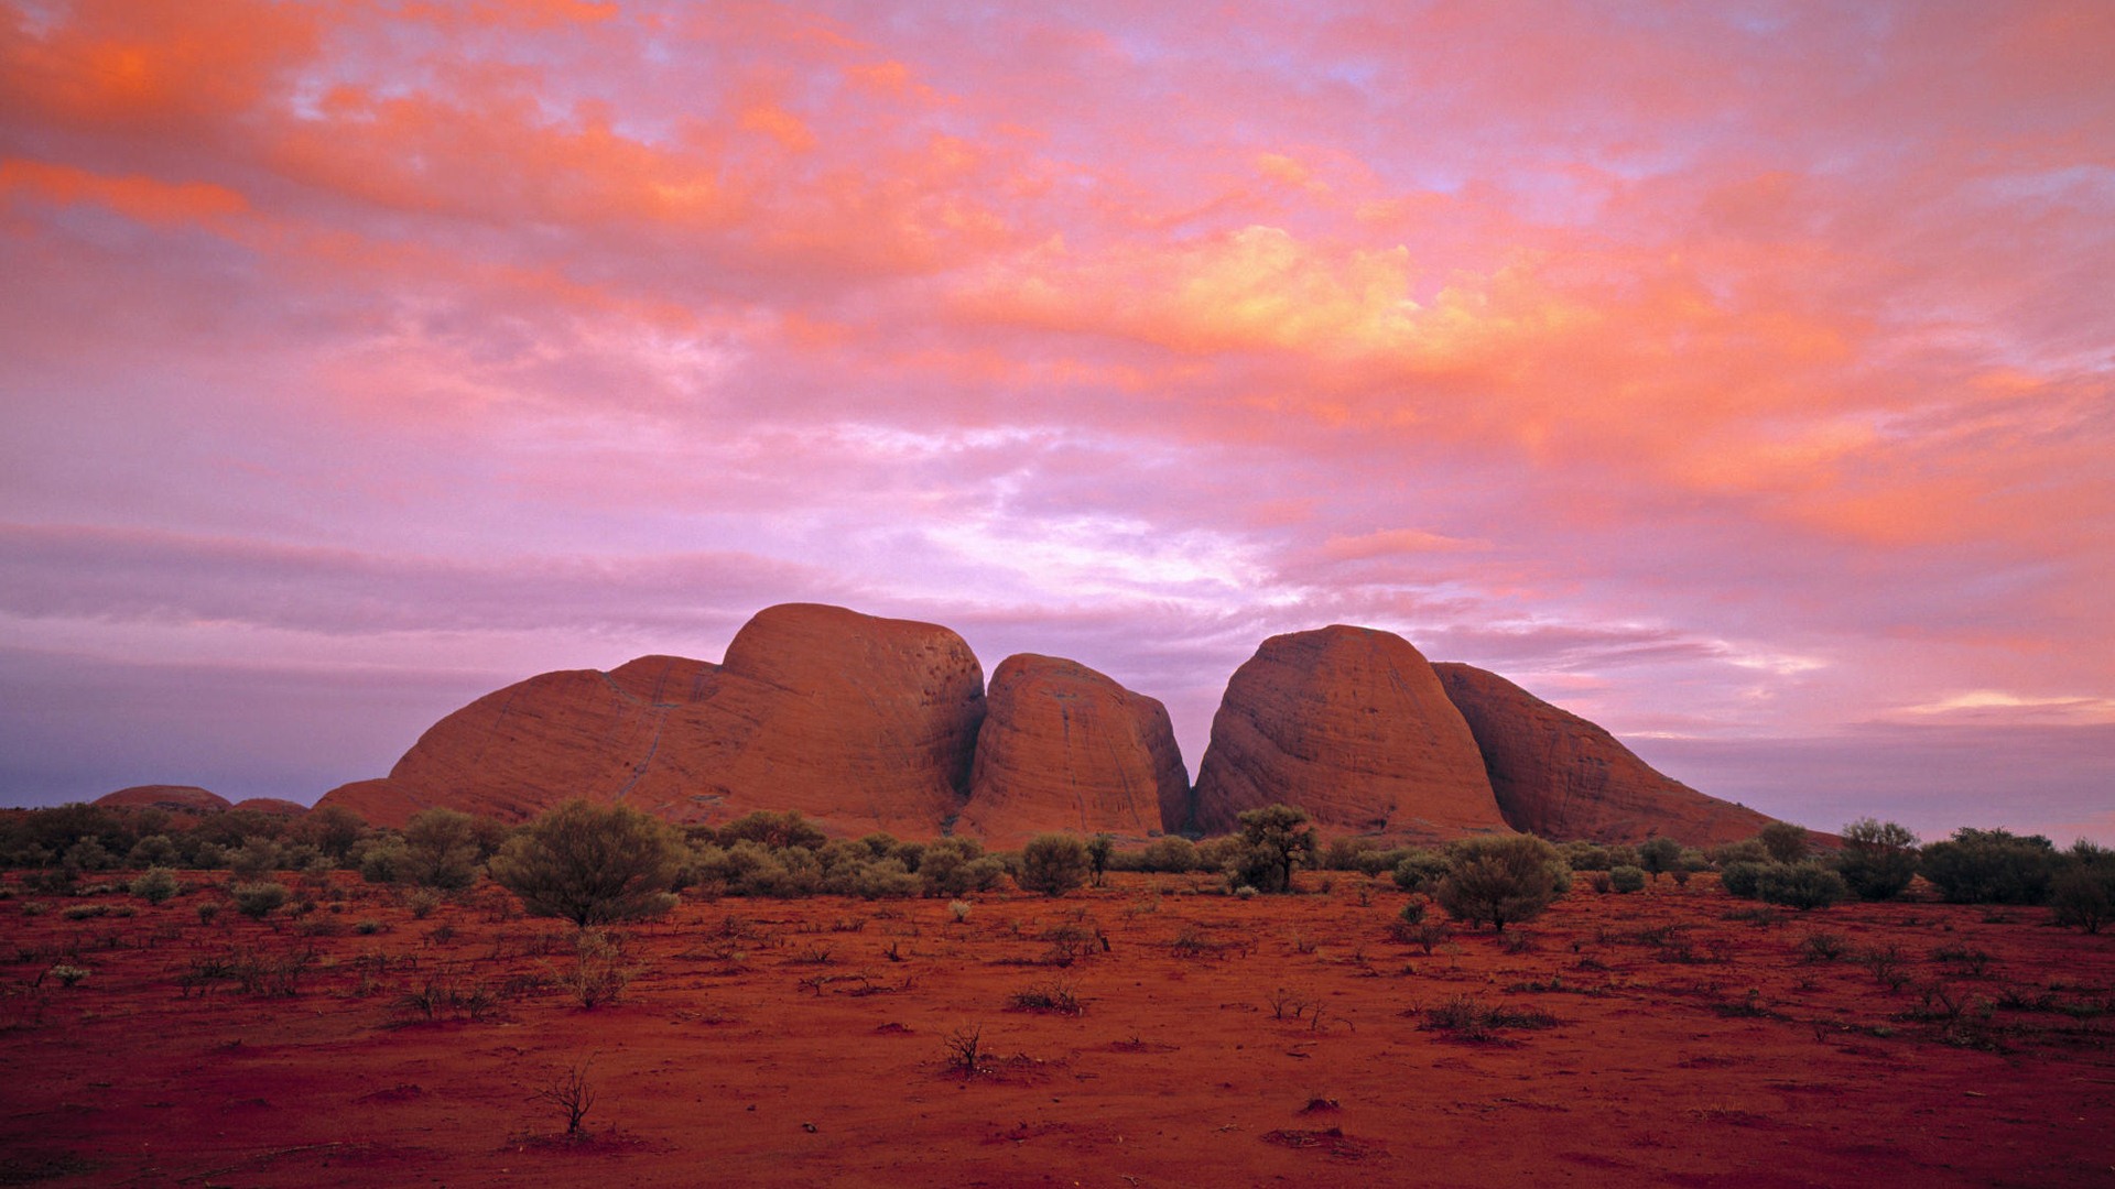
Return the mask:
<svg viewBox="0 0 2115 1189">
<path fill-rule="evenodd" d="M 933 838 L 969 793 L 983 669 L 956 633 L 791 603 L 725 662 L 544 673 L 434 724 L 387 781 L 332 789 L 376 825 L 446 804 L 527 819 L 569 798 L 719 823 L 797 808 L 833 834 Z"/>
</svg>

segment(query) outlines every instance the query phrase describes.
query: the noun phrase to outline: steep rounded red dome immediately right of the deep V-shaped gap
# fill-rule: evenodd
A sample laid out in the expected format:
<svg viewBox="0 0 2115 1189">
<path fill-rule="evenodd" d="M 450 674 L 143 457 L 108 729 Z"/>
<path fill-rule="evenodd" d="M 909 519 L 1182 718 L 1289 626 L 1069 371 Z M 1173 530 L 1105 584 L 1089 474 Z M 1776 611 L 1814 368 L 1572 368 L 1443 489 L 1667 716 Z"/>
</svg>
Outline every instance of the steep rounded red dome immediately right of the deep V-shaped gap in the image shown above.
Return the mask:
<svg viewBox="0 0 2115 1189">
<path fill-rule="evenodd" d="M 1411 643 L 1328 626 L 1263 641 L 1227 683 L 1197 768 L 1195 825 L 1305 808 L 1326 836 L 1442 840 L 1508 831 L 1461 713 Z"/>
</svg>

